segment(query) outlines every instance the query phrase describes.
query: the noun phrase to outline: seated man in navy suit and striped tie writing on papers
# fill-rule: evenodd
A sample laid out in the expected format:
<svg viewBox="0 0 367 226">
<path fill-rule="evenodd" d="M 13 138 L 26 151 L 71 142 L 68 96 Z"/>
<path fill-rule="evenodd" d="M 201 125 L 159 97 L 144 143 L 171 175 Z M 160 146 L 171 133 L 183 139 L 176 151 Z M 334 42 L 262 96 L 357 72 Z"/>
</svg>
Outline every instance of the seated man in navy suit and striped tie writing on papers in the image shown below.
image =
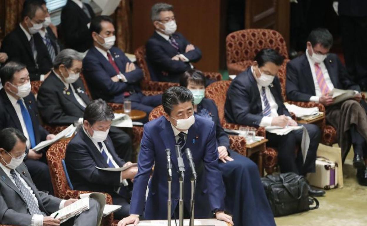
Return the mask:
<svg viewBox="0 0 367 226">
<path fill-rule="evenodd" d="M 274 49 L 262 49 L 254 58 L 252 66 L 237 75 L 227 91 L 225 117 L 227 122 L 246 126 L 297 126 L 283 104 L 279 78 L 276 74 L 283 63 Z M 301 124 L 299 124 L 301 125 Z M 320 129 L 306 124 L 310 144 L 303 161 L 302 152 L 295 153 L 302 140 L 302 130 L 292 130 L 286 135 L 266 131 L 266 146 L 276 148 L 281 173 L 293 172 L 306 175 L 315 172 L 316 150 L 320 142 Z M 300 149 L 300 148 L 299 148 Z M 322 196 L 323 190 L 309 186 L 311 196 Z"/>
</svg>

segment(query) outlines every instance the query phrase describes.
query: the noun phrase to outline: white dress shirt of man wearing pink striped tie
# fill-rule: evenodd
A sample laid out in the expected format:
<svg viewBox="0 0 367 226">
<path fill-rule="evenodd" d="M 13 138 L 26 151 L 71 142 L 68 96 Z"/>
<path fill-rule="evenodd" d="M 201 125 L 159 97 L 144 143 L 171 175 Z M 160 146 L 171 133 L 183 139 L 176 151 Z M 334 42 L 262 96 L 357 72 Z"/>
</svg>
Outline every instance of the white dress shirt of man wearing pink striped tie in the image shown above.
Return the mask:
<svg viewBox="0 0 367 226">
<path fill-rule="evenodd" d="M 316 96 L 310 97 L 310 101 L 315 101 L 316 103 L 319 103 L 319 99 L 322 96 L 322 94 L 321 94 L 319 83 L 317 82 L 315 61 L 313 61 L 312 58 L 310 57 L 310 55 L 308 54 L 308 49 L 306 49 L 306 57 L 308 59 L 308 63 L 309 63 L 310 68 L 311 68 L 313 84 L 315 85 L 315 93 L 316 93 Z M 326 66 L 325 66 L 324 62 L 319 63 L 319 67 L 321 68 L 321 72 L 324 75 L 324 79 L 325 79 L 327 87 L 329 88 L 330 91 L 333 90 L 334 85 L 333 85 L 333 82 L 331 82 L 329 73 L 327 72 L 327 69 L 326 69 Z"/>
</svg>

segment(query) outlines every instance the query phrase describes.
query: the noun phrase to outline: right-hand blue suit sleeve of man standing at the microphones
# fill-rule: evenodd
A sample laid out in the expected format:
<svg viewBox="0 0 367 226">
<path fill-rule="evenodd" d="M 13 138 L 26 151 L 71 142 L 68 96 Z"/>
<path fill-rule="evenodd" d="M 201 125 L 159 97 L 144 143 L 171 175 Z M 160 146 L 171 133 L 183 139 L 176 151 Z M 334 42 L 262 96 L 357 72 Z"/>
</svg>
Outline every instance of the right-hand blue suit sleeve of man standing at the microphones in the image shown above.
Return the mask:
<svg viewBox="0 0 367 226">
<path fill-rule="evenodd" d="M 219 155 L 217 151 L 217 139 L 215 137 L 215 124 L 212 124 L 208 134 L 206 150 L 204 154 L 204 168 L 208 186 L 208 198 L 210 208 L 214 210 L 224 210 L 224 183 L 222 173 L 219 170 Z"/>
</svg>

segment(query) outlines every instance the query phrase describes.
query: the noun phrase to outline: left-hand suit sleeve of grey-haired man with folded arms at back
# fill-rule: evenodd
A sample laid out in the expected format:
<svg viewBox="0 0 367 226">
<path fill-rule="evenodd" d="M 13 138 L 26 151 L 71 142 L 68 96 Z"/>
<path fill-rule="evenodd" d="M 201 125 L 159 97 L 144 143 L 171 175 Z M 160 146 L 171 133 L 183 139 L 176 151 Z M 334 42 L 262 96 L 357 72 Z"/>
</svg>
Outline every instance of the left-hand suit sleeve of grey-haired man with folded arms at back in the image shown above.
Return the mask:
<svg viewBox="0 0 367 226">
<path fill-rule="evenodd" d="M 172 60 L 170 56 L 155 41 L 148 40 L 146 44 L 146 56 L 149 62 L 157 64 L 162 71 L 168 73 L 183 73 L 190 69 L 190 64 L 181 60 Z"/>
</svg>

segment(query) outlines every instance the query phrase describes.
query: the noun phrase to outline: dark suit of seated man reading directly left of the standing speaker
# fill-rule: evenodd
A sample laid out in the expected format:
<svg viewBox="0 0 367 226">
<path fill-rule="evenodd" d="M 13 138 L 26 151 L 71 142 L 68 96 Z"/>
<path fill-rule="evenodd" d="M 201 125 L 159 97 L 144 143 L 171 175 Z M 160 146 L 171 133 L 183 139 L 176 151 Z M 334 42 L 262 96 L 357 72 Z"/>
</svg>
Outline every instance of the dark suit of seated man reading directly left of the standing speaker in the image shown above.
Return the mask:
<svg viewBox="0 0 367 226">
<path fill-rule="evenodd" d="M 103 142 L 116 164 L 122 167 L 125 161 L 117 156 L 111 139 L 107 137 Z M 122 205 L 122 208 L 114 213 L 115 219 L 128 216 L 130 204 L 127 200 L 130 198 L 130 188 L 120 185 L 121 172 L 95 168 L 96 166 L 101 168 L 108 168 L 109 166 L 83 128 L 79 130 L 66 147 L 65 164 L 74 189 L 109 193 L 112 196 L 113 204 Z M 120 193 L 124 192 L 122 196 L 116 193 L 119 187 L 121 187 Z"/>
</svg>

